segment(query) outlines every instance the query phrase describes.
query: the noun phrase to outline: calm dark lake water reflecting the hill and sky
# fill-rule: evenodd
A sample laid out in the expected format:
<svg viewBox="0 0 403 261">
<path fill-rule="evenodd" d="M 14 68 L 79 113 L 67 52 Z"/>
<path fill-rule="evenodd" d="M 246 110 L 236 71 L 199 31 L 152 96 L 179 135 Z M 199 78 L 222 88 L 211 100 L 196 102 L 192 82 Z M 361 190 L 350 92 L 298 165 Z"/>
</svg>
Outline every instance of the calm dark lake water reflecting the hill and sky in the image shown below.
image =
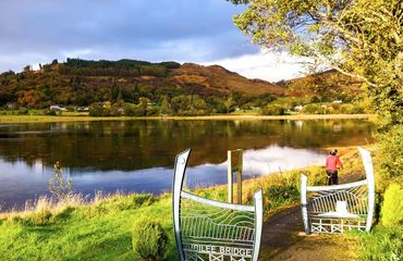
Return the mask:
<svg viewBox="0 0 403 261">
<path fill-rule="evenodd" d="M 122 121 L 0 125 L 3 210 L 48 192 L 60 161 L 76 191 L 159 194 L 171 189 L 173 161 L 187 148 L 191 186 L 227 179 L 227 150 L 244 149 L 244 174 L 322 164 L 319 149 L 365 145 L 371 124 L 338 121 Z"/>
</svg>

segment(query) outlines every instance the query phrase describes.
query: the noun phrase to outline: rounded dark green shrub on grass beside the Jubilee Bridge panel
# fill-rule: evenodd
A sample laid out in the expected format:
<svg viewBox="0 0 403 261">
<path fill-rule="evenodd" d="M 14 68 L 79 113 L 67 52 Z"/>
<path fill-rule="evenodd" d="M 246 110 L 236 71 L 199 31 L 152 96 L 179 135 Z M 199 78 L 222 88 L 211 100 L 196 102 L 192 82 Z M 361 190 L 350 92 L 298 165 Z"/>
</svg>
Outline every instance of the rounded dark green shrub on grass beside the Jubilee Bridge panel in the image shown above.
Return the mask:
<svg viewBox="0 0 403 261">
<path fill-rule="evenodd" d="M 133 250 L 142 260 L 161 260 L 166 256 L 168 235 L 161 224 L 141 220 L 133 228 L 132 244 Z"/>
</svg>

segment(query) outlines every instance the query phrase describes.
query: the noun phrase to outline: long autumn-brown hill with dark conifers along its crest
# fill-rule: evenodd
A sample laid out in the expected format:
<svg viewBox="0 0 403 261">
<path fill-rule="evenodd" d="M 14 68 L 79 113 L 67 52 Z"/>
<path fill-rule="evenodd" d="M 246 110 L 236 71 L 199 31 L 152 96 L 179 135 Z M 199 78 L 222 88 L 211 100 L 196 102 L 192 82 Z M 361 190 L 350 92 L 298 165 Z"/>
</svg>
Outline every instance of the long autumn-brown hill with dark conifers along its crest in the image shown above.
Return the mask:
<svg viewBox="0 0 403 261">
<path fill-rule="evenodd" d="M 209 104 L 264 105 L 283 96 L 284 88 L 264 80 L 247 79 L 221 66 L 176 62 L 150 63 L 135 60 L 54 60 L 32 71 L 0 74 L 0 107 L 48 108 L 50 104 L 89 105 L 95 102 L 138 103 L 141 97 L 161 103 L 178 96 L 197 96 Z"/>
</svg>

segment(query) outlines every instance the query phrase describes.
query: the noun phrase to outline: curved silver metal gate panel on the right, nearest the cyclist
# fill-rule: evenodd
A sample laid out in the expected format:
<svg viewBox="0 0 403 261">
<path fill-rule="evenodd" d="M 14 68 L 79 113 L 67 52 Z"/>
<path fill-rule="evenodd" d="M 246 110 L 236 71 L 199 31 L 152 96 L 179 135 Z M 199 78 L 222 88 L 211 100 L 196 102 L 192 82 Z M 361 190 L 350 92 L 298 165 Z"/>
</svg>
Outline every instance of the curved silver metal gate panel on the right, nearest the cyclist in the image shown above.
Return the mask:
<svg viewBox="0 0 403 261">
<path fill-rule="evenodd" d="M 375 179 L 369 151 L 358 147 L 366 179 L 333 186 L 307 186 L 301 175 L 301 207 L 304 228 L 309 233 L 369 232 L 375 204 Z"/>
</svg>

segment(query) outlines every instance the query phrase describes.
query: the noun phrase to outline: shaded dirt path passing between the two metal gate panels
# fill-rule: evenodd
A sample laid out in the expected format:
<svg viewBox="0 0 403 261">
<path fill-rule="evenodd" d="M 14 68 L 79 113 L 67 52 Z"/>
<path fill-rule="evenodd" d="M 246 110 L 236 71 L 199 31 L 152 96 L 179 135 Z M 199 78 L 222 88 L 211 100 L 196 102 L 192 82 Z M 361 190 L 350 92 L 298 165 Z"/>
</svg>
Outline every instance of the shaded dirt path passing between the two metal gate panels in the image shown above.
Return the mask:
<svg viewBox="0 0 403 261">
<path fill-rule="evenodd" d="M 300 207 L 283 210 L 264 223 L 261 261 L 356 260 L 354 241 L 340 235 L 301 235 Z"/>
</svg>

